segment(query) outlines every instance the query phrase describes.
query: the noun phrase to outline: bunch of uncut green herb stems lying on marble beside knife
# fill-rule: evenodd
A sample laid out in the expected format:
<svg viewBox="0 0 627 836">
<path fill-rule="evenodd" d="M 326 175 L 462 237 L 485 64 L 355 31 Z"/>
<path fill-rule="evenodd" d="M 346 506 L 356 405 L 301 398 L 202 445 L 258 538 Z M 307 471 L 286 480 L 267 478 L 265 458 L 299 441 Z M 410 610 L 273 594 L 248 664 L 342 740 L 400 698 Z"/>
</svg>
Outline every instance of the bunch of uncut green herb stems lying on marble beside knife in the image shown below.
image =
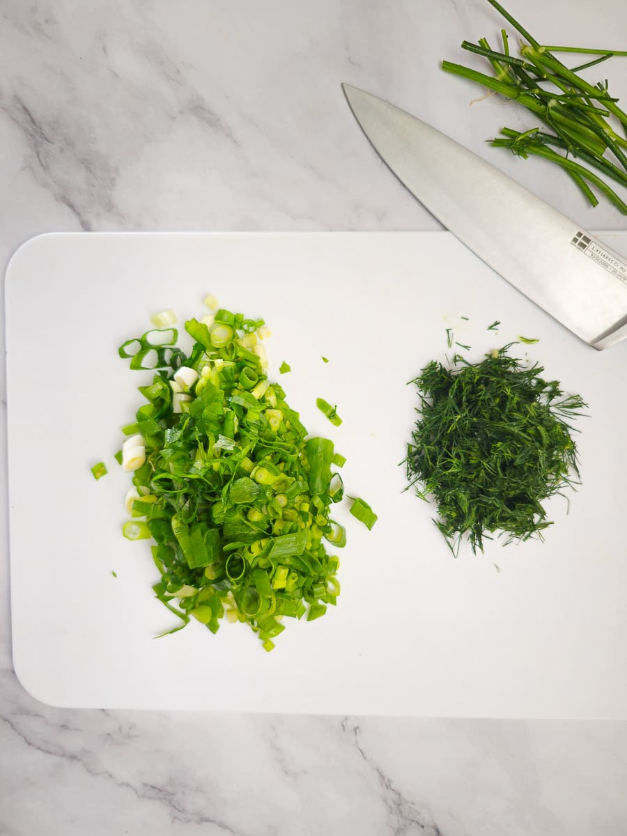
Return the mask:
<svg viewBox="0 0 627 836">
<path fill-rule="evenodd" d="M 627 52 L 543 46 L 497 0 L 487 2 L 524 38 L 520 42 L 520 57 L 510 53 L 509 37 L 502 29 L 502 49 L 493 49 L 487 38 L 461 43 L 461 48 L 487 59 L 492 75 L 451 61 L 442 61 L 442 69 L 517 101 L 548 128 L 543 130 L 541 125 L 535 125 L 520 131 L 506 127 L 491 144 L 524 159 L 535 155 L 553 162 L 567 172 L 592 206 L 599 203 L 595 189 L 619 212 L 627 214 L 627 204 L 607 182 L 609 178 L 627 186 L 627 114 L 619 108 L 619 99 L 610 95 L 607 79 L 590 84 L 579 74 L 614 56 L 627 56 Z M 589 54 L 596 58 L 567 67 L 556 53 Z"/>
</svg>

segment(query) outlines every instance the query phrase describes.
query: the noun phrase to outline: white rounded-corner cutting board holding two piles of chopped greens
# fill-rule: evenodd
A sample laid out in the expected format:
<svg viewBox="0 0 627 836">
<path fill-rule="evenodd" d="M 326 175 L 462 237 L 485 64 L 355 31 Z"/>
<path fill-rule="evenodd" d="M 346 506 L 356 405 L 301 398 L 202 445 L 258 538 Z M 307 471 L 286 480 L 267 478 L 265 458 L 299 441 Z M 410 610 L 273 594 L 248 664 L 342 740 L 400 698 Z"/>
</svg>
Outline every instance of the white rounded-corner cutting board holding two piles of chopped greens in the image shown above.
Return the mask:
<svg viewBox="0 0 627 836">
<path fill-rule="evenodd" d="M 627 252 L 627 232 L 605 236 Z M 149 315 L 263 316 L 288 401 L 347 457 L 344 482 L 379 514 L 349 518 L 336 609 L 288 623 L 266 654 L 242 624 L 217 635 L 152 596 L 145 541 L 121 537 L 129 476 L 112 458 L 140 405 L 117 356 Z M 461 316 L 470 319 L 465 322 Z M 499 319 L 498 334 L 487 325 Z M 546 542 L 451 557 L 433 507 L 403 492 L 415 418 L 406 381 L 446 354 L 518 350 L 589 401 L 583 486 L 550 505 Z M 13 655 L 57 706 L 337 714 L 627 717 L 627 342 L 579 342 L 447 232 L 56 234 L 7 276 Z M 324 364 L 321 355 L 329 358 Z M 338 404 L 331 426 L 315 408 Z M 110 475 L 89 467 L 104 459 Z M 495 564 L 500 568 L 497 571 Z M 117 573 L 114 578 L 112 572 Z"/>
</svg>

